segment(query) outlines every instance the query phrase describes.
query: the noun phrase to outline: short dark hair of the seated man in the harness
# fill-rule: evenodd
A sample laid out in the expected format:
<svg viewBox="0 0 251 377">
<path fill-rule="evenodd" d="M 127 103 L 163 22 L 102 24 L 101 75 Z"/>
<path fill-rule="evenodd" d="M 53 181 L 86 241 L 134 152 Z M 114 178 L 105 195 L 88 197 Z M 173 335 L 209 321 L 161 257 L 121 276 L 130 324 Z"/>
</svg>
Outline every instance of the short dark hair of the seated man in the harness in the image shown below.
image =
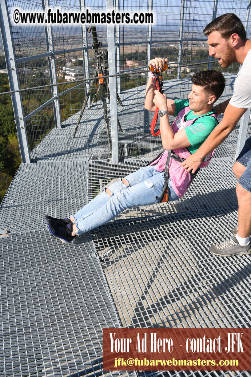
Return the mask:
<svg viewBox="0 0 251 377">
<path fill-rule="evenodd" d="M 191 78 L 192 83 L 202 86 L 209 94 L 213 94 L 218 100 L 225 88 L 225 77 L 220 71 L 208 69 L 199 71 Z"/>
</svg>

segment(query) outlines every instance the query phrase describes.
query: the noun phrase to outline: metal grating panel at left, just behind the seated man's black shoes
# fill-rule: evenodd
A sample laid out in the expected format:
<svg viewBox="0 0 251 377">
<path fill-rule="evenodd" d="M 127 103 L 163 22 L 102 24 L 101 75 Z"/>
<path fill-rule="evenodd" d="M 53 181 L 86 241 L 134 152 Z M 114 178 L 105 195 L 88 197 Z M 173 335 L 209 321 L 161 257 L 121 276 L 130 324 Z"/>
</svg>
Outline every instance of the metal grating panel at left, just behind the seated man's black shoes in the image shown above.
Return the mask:
<svg viewBox="0 0 251 377">
<path fill-rule="evenodd" d="M 21 164 L 0 205 L 8 231 L 46 228 L 44 215 L 62 218 L 87 204 L 88 162 Z"/>
</svg>

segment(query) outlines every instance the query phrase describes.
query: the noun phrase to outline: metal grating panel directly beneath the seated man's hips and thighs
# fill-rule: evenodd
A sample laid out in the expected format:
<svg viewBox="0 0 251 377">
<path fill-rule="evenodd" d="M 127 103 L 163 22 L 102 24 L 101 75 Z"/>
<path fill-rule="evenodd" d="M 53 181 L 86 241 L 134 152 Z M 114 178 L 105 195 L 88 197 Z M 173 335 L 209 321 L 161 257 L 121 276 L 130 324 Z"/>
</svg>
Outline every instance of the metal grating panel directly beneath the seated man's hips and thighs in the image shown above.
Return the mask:
<svg viewBox="0 0 251 377">
<path fill-rule="evenodd" d="M 129 173 L 145 166 L 146 161 L 128 160 L 117 164 L 89 162 L 88 200 L 94 198 L 100 186 L 112 180 L 124 178 Z M 149 216 L 165 216 L 167 213 L 205 211 L 212 208 L 237 208 L 236 179 L 232 173 L 233 159 L 213 158 L 208 167 L 201 169 L 183 201 L 132 207 L 116 219 L 132 219 Z M 219 170 L 221 177 L 219 178 Z"/>
</svg>

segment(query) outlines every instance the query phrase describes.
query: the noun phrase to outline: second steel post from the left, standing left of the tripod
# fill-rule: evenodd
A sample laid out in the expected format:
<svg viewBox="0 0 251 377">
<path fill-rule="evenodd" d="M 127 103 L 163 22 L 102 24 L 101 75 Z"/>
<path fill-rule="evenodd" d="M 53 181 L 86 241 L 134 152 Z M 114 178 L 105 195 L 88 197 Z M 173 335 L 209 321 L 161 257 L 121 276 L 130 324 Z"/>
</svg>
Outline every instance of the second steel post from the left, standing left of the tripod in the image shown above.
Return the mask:
<svg viewBox="0 0 251 377">
<path fill-rule="evenodd" d="M 43 11 L 47 12 L 49 8 L 49 0 L 42 0 Z M 48 57 L 49 71 L 50 71 L 50 83 L 57 84 L 57 72 L 56 72 L 56 61 L 54 56 L 54 44 L 53 44 L 53 35 L 52 27 L 50 24 L 44 26 L 45 36 L 46 36 L 46 46 L 47 52 L 52 52 L 53 55 Z M 52 97 L 57 96 L 57 99 L 53 101 L 53 112 L 55 119 L 55 126 L 58 128 L 62 127 L 61 123 L 61 113 L 60 113 L 60 104 L 59 104 L 59 91 L 58 86 L 52 86 Z"/>
</svg>

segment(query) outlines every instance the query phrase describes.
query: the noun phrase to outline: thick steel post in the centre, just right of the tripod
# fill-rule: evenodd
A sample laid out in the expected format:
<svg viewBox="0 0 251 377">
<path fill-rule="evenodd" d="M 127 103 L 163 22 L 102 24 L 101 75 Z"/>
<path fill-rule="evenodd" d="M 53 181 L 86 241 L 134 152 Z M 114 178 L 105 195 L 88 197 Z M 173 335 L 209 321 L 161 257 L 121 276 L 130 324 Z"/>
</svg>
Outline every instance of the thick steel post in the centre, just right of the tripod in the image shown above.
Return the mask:
<svg viewBox="0 0 251 377">
<path fill-rule="evenodd" d="M 114 9 L 113 0 L 106 0 L 106 9 Z M 115 55 L 115 27 L 107 24 L 107 45 L 108 45 L 108 66 L 109 75 L 116 74 L 116 55 Z M 111 144 L 113 162 L 119 161 L 119 142 L 118 142 L 118 111 L 117 111 L 117 78 L 110 77 L 110 106 L 111 106 Z"/>
</svg>

